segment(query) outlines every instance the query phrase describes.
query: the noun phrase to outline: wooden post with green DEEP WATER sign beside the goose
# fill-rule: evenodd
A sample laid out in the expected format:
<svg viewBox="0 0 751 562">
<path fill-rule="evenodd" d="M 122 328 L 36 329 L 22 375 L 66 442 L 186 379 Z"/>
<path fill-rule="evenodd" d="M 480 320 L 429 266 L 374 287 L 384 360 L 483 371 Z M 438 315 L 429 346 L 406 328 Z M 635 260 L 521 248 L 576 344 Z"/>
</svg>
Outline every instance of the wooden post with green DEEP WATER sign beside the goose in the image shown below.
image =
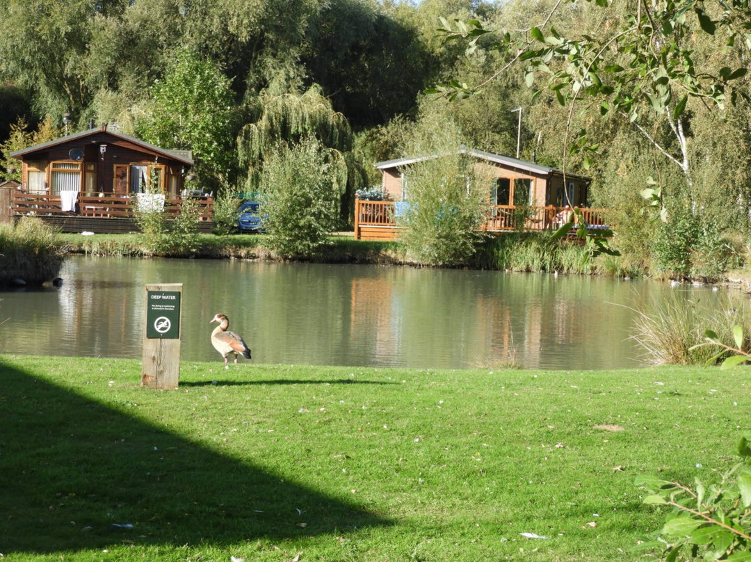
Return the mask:
<svg viewBox="0 0 751 562">
<path fill-rule="evenodd" d="M 182 283 L 146 285 L 141 386 L 177 388 L 180 379 Z"/>
</svg>

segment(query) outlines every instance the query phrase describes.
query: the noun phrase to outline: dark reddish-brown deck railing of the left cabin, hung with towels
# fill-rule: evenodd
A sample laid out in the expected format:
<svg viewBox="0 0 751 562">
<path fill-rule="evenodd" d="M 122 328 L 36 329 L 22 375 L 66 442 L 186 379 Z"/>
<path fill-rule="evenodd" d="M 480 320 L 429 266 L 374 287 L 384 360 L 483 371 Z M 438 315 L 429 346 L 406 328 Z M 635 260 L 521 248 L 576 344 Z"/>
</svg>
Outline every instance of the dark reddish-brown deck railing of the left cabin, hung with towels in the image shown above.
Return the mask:
<svg viewBox="0 0 751 562">
<path fill-rule="evenodd" d="M 165 198 L 164 211 L 167 216 L 174 218 L 182 208 L 182 198 Z M 198 204 L 199 220 L 213 219 L 213 203 L 211 197 L 195 198 Z M 38 195 L 34 193 L 16 192 L 13 198 L 13 212 L 16 215 L 41 216 L 70 216 L 77 214 L 86 217 L 104 217 L 132 219 L 137 209 L 137 198 L 127 195 L 89 196 L 78 195 L 75 205 L 76 211 L 62 210 L 59 195 Z"/>
</svg>

